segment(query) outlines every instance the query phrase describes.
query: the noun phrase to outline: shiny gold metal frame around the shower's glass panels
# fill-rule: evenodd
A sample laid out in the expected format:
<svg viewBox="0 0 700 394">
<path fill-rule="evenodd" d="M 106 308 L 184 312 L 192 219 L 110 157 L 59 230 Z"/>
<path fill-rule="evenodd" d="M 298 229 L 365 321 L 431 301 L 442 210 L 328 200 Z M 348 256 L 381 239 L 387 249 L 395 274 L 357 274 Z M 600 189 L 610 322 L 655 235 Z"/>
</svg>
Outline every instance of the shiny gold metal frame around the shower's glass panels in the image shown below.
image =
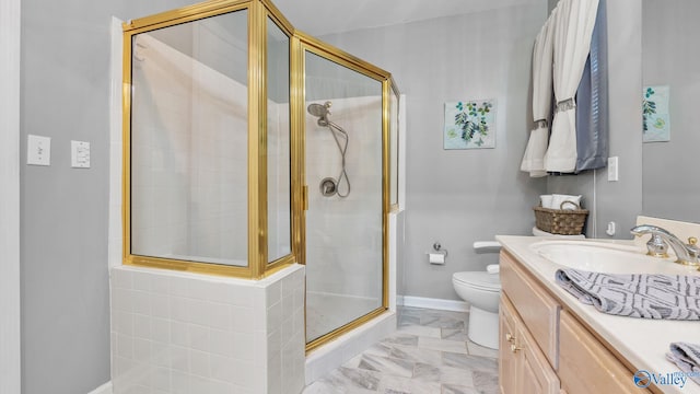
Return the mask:
<svg viewBox="0 0 700 394">
<path fill-rule="evenodd" d="M 223 13 L 248 10 L 248 265 L 224 266 L 131 254 L 131 43 L 139 33 L 192 22 Z M 268 263 L 267 223 L 267 21 L 270 19 L 290 38 L 290 159 L 291 159 L 291 253 Z M 304 54 L 311 51 L 382 83 L 382 306 L 310 344 L 307 350 L 326 343 L 381 314 L 388 308 L 388 215 L 389 166 L 395 161 L 389 150 L 389 95 L 399 95 L 389 72 L 341 49 L 328 45 L 292 24 L 269 0 L 211 0 L 124 23 L 122 124 L 124 124 L 124 264 L 179 271 L 260 279 L 291 264 L 305 264 L 305 211 L 308 208 L 305 183 L 305 84 Z"/>
</svg>

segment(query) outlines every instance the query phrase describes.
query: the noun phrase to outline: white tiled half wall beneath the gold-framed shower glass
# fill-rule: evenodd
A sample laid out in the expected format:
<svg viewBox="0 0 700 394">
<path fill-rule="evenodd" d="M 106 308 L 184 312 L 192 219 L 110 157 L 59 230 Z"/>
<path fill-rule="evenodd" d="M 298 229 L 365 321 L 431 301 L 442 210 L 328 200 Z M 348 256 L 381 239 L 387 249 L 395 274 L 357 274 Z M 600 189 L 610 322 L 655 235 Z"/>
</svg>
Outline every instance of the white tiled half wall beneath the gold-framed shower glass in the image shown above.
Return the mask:
<svg viewBox="0 0 700 394">
<path fill-rule="evenodd" d="M 259 281 L 118 266 L 114 393 L 300 393 L 304 267 Z"/>
</svg>

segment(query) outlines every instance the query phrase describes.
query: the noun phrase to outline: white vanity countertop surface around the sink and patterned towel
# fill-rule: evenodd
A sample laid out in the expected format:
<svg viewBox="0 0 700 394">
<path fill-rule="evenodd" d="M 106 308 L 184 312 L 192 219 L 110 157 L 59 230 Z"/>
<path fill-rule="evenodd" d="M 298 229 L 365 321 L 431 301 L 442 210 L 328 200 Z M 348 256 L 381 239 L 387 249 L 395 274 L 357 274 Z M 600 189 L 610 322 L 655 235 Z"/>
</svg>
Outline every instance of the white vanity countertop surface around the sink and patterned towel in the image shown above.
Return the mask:
<svg viewBox="0 0 700 394">
<path fill-rule="evenodd" d="M 666 360 L 668 345 L 674 341 L 687 341 L 700 344 L 700 322 L 698 321 L 670 321 L 670 320 L 648 320 L 635 317 L 623 317 L 598 312 L 593 305 L 580 302 L 576 298 L 557 285 L 555 273 L 563 268 L 544 257 L 532 245 L 537 242 L 557 241 L 556 239 L 542 239 L 535 236 L 511 236 L 498 235 L 504 250 L 515 256 L 529 271 L 561 300 L 564 308 L 572 311 L 588 326 L 607 340 L 639 370 L 646 370 L 651 373 L 674 373 L 680 371 L 676 364 Z M 572 242 L 561 240 L 561 242 Z M 576 242 L 605 242 L 615 245 L 633 246 L 639 248 L 632 241 L 609 241 L 609 240 L 586 240 Z M 640 255 L 645 251 L 640 248 Z M 698 270 L 689 270 L 687 267 L 668 262 L 668 266 L 658 274 L 669 275 L 700 275 Z M 632 383 L 632 382 L 630 382 Z M 657 385 L 664 393 L 690 394 L 700 393 L 700 385 L 687 379 L 685 386 L 679 385 Z"/>
</svg>

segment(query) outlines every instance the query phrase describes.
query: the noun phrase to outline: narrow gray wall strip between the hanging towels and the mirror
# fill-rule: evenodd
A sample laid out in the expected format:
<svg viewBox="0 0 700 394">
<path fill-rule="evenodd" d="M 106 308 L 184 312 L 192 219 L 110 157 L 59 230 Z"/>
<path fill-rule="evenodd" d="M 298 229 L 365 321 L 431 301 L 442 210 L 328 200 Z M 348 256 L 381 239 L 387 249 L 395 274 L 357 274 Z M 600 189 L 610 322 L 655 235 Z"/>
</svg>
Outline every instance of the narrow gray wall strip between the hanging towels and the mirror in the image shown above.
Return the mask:
<svg viewBox="0 0 700 394">
<path fill-rule="evenodd" d="M 549 176 L 548 193 L 581 194 L 591 210 L 587 236 L 608 237 L 610 221 L 618 239 L 642 212 L 641 19 L 639 0 L 608 0 L 608 89 L 610 157 L 619 157 L 619 181 L 607 181 L 607 169 L 576 176 Z"/>
</svg>

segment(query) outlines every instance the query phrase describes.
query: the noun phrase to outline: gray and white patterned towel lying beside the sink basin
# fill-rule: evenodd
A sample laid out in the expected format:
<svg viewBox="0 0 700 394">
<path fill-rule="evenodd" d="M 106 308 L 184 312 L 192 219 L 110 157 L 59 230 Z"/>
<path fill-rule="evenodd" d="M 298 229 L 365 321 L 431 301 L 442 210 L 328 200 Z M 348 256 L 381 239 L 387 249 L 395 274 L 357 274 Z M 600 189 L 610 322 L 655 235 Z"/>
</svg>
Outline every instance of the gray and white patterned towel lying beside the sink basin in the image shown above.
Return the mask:
<svg viewBox="0 0 700 394">
<path fill-rule="evenodd" d="M 559 269 L 557 283 L 600 312 L 643 318 L 700 320 L 700 276 L 600 274 Z"/>
</svg>

